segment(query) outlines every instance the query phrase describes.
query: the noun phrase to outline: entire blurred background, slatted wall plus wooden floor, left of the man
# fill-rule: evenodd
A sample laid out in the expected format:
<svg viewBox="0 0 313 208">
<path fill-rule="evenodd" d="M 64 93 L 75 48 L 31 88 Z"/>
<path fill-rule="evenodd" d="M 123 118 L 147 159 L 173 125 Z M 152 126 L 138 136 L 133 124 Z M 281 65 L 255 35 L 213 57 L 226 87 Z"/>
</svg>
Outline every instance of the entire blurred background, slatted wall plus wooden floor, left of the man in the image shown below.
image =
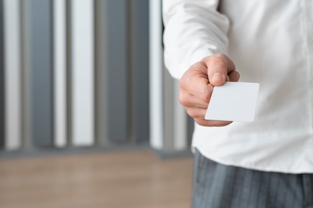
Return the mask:
<svg viewBox="0 0 313 208">
<path fill-rule="evenodd" d="M 189 207 L 161 0 L 0 0 L 0 208 Z"/>
</svg>

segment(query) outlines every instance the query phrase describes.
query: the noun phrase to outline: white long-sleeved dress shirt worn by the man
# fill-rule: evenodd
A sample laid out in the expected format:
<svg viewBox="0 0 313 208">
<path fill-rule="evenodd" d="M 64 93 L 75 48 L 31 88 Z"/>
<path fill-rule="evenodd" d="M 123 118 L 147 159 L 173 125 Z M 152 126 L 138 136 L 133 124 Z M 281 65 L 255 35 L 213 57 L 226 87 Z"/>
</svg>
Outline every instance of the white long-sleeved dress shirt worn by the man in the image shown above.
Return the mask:
<svg viewBox="0 0 313 208">
<path fill-rule="evenodd" d="M 179 79 L 217 52 L 260 83 L 254 122 L 195 124 L 192 147 L 224 165 L 313 173 L 313 0 L 163 0 L 164 61 Z"/>
</svg>

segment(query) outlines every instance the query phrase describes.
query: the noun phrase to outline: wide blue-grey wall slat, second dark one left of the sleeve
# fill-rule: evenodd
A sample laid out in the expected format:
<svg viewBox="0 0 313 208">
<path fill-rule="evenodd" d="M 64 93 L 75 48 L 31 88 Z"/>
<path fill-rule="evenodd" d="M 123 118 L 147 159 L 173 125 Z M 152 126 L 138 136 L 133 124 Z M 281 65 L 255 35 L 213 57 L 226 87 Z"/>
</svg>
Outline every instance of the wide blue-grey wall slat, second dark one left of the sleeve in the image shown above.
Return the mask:
<svg viewBox="0 0 313 208">
<path fill-rule="evenodd" d="M 114 142 L 127 137 L 127 0 L 107 2 L 108 35 L 108 137 Z"/>
</svg>

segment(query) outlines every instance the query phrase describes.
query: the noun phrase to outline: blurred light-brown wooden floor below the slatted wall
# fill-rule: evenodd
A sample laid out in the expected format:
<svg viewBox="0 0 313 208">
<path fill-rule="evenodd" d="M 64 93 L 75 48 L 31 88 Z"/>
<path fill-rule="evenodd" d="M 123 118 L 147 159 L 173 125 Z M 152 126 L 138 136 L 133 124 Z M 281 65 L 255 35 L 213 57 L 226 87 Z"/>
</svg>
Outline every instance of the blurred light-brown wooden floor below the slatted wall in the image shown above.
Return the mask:
<svg viewBox="0 0 313 208">
<path fill-rule="evenodd" d="M 192 159 L 151 150 L 0 160 L 0 208 L 188 208 Z"/>
</svg>

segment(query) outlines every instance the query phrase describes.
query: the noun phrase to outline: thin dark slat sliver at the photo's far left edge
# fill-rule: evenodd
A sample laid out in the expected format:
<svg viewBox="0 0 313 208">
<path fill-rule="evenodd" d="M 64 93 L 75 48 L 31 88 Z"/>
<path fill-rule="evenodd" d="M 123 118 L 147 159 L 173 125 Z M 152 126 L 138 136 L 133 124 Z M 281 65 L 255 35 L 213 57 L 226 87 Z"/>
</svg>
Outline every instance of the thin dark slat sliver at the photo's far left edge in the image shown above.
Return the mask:
<svg viewBox="0 0 313 208">
<path fill-rule="evenodd" d="M 3 0 L 0 0 L 0 149 L 4 148 Z"/>
</svg>

